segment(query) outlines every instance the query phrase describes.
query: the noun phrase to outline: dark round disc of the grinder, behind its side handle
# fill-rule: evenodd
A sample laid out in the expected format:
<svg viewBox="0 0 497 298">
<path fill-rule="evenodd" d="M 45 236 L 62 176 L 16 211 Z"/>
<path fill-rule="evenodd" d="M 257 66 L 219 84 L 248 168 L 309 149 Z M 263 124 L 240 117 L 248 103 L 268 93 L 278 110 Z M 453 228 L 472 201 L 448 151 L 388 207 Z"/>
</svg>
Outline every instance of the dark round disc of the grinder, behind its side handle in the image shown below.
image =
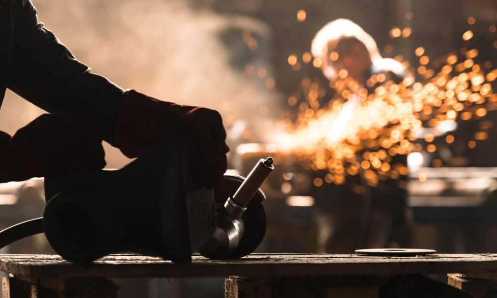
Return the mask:
<svg viewBox="0 0 497 298">
<path fill-rule="evenodd" d="M 214 187 L 214 201 L 223 205 L 228 197 L 233 196 L 245 178 L 238 175 L 225 174 L 222 181 Z M 266 212 L 262 206 L 265 196 L 259 189 L 248 202 L 247 210 L 242 219 L 245 224 L 245 233 L 237 248 L 232 251 L 227 259 L 244 257 L 254 251 L 264 239 L 266 233 Z"/>
</svg>

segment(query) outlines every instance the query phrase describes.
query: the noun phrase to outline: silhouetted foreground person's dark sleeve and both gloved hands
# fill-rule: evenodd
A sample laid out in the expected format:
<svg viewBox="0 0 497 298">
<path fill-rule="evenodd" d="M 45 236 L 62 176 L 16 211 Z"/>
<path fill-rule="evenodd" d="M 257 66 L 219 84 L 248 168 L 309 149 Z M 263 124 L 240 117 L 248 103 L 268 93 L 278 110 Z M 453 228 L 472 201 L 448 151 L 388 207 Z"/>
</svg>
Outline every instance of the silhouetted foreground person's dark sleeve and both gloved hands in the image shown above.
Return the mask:
<svg viewBox="0 0 497 298">
<path fill-rule="evenodd" d="M 0 0 L 0 104 L 6 88 L 49 114 L 12 137 L 0 133 L 0 182 L 100 169 L 102 141 L 133 158 L 175 136 L 193 141 L 201 185 L 213 187 L 226 170 L 218 112 L 124 90 L 91 73 L 38 21 L 30 0 Z"/>
</svg>

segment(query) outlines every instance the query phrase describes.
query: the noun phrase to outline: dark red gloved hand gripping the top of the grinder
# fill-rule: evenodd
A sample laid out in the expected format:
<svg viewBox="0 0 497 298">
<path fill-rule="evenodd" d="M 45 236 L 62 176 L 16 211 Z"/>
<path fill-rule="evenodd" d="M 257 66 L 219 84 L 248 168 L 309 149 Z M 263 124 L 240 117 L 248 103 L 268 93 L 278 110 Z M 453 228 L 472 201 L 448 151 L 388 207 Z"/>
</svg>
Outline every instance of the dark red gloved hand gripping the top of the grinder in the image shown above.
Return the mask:
<svg viewBox="0 0 497 298">
<path fill-rule="evenodd" d="M 125 92 L 112 145 L 130 158 L 175 136 L 194 143 L 192 172 L 197 182 L 214 187 L 227 168 L 226 131 L 214 110 L 160 101 L 135 90 Z"/>
</svg>

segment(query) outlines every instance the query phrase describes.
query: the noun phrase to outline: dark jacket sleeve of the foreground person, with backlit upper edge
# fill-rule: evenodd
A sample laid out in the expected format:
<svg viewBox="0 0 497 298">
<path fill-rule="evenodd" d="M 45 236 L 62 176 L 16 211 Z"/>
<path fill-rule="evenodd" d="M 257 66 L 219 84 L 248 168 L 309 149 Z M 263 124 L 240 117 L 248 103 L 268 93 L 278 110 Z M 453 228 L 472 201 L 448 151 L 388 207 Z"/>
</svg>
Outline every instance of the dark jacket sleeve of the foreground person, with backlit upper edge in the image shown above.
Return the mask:
<svg viewBox="0 0 497 298">
<path fill-rule="evenodd" d="M 14 54 L 7 87 L 49 113 L 82 121 L 110 142 L 123 90 L 76 60 L 38 22 L 30 0 L 16 2 Z"/>
</svg>

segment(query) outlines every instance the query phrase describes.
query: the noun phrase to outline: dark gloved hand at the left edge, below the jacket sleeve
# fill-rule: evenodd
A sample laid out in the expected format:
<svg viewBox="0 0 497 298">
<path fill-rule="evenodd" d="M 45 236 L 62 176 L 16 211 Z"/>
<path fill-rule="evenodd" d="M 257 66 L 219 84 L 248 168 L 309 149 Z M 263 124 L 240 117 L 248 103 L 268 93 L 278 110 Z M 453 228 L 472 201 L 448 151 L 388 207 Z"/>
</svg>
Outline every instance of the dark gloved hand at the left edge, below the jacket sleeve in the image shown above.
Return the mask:
<svg viewBox="0 0 497 298">
<path fill-rule="evenodd" d="M 101 140 L 69 118 L 44 114 L 14 136 L 0 134 L 0 182 L 101 169 Z"/>
</svg>

